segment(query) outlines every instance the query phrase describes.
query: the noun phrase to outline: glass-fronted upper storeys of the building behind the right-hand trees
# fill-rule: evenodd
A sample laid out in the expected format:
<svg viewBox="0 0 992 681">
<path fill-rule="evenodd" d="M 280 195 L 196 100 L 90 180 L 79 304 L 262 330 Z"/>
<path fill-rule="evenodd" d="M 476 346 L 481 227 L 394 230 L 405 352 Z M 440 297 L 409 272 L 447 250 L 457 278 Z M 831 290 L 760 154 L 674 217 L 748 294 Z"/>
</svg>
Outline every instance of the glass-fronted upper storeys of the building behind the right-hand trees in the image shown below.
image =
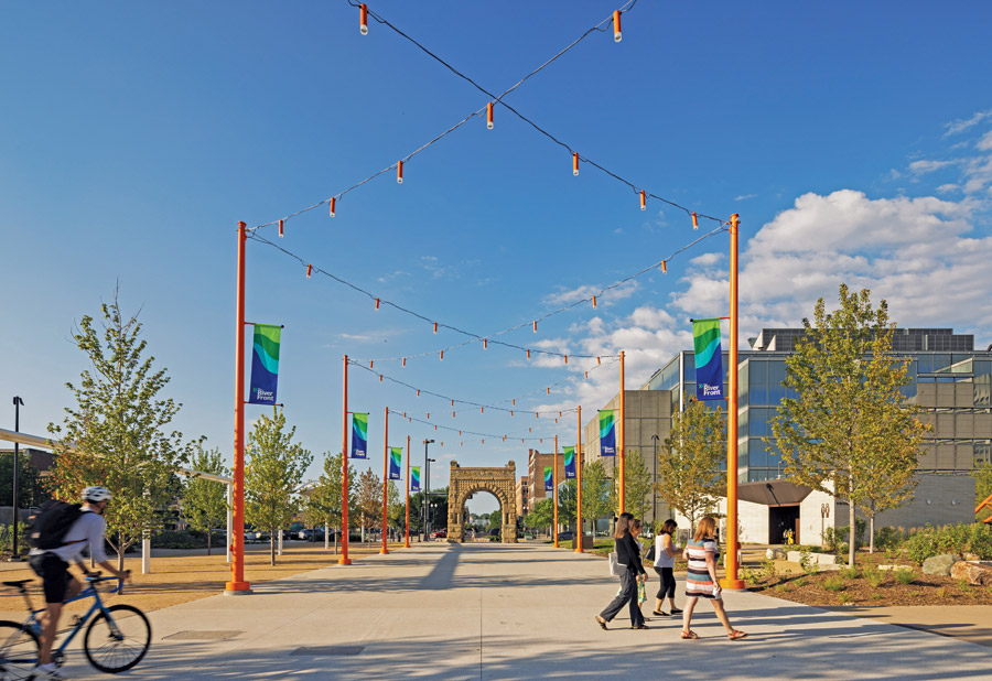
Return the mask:
<svg viewBox="0 0 992 681">
<path fill-rule="evenodd" d="M 774 479 L 783 463 L 762 441 L 786 397 L 786 359 L 801 338 L 801 328 L 766 328 L 738 352 L 737 479 Z M 919 454 L 921 473 L 967 473 L 975 463 L 992 461 L 992 347 L 974 349 L 974 337 L 950 328 L 899 328 L 893 352 L 909 359 L 906 398 L 926 411 L 934 426 Z M 727 355 L 723 354 L 724 367 Z M 646 390 L 671 390 L 672 412 L 696 396 L 692 352 L 679 353 L 645 383 Z M 724 379 L 724 390 L 726 382 Z"/>
</svg>

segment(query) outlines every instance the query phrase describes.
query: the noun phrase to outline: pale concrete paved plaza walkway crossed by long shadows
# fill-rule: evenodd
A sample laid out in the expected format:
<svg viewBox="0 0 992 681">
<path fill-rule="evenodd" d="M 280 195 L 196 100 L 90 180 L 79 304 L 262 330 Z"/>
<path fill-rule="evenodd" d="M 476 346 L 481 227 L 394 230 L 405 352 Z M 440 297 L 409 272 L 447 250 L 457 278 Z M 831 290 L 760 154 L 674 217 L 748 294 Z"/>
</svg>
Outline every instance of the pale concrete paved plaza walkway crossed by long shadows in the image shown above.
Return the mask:
<svg viewBox="0 0 992 681">
<path fill-rule="evenodd" d="M 547 544 L 414 544 L 150 613 L 152 648 L 126 675 L 992 679 L 989 647 L 751 593 L 725 594 L 732 623 L 751 635 L 741 641 L 726 639 L 709 604 L 693 620 L 700 640 L 681 640 L 676 618 L 644 631 L 617 618 L 603 631 L 593 617 L 616 585 L 603 559 Z M 680 583 L 680 605 L 681 593 Z M 65 671 L 107 678 L 82 651 Z"/>
</svg>

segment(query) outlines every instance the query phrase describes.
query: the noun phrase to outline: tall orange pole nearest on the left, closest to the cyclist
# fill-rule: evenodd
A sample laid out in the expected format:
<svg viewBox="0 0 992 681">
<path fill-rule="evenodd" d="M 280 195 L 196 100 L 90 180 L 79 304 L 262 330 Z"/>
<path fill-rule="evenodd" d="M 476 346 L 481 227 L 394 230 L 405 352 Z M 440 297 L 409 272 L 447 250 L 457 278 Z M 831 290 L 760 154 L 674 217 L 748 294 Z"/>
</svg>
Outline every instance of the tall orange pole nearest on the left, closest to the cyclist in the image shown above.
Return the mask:
<svg viewBox="0 0 992 681">
<path fill-rule="evenodd" d="M 230 538 L 230 582 L 224 593 L 251 593 L 245 581 L 245 223 L 238 223 L 238 274 L 235 307 L 235 452 L 234 452 L 234 527 Z"/>
</svg>

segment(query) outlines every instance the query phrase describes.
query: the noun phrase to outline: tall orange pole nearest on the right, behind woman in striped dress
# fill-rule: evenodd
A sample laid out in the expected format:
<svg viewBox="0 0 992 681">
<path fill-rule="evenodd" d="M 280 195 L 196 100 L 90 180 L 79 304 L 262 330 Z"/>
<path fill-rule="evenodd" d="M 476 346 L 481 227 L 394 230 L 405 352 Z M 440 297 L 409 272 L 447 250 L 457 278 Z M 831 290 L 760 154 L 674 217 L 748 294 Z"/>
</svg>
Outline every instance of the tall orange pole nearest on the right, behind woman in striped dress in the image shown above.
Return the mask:
<svg viewBox="0 0 992 681">
<path fill-rule="evenodd" d="M 731 216 L 730 410 L 726 414 L 726 588 L 744 588 L 737 579 L 737 214 Z"/>
</svg>

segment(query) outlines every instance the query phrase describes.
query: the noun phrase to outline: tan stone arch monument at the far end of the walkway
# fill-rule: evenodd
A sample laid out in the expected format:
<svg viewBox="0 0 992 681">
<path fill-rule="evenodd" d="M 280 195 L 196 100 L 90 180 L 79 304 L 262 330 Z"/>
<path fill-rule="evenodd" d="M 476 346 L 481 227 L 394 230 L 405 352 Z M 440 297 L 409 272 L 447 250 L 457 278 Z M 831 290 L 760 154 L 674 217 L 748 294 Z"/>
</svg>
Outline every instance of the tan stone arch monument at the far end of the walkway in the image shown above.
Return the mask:
<svg viewBox="0 0 992 681">
<path fill-rule="evenodd" d="M 465 501 L 476 491 L 488 491 L 499 500 L 503 515 L 500 539 L 517 541 L 517 466 L 509 462 L 502 468 L 462 468 L 451 462 L 448 483 L 448 541 L 465 541 Z"/>
</svg>

